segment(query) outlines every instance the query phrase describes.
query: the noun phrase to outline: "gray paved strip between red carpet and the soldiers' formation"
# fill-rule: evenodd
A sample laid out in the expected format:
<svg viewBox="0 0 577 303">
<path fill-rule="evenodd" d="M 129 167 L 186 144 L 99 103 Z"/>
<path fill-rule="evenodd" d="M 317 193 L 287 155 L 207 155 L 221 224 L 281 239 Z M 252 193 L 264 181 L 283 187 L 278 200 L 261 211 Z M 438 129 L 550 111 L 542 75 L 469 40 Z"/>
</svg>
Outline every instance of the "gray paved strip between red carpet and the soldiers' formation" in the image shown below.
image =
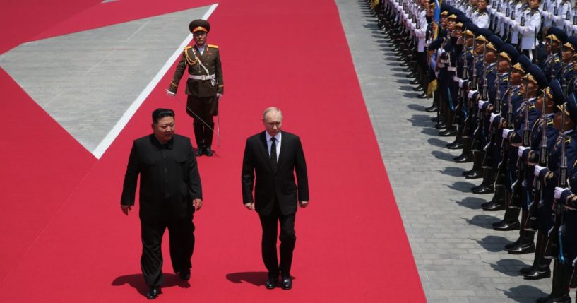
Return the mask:
<svg viewBox="0 0 577 303">
<path fill-rule="evenodd" d="M 495 232 L 503 213 L 483 212 L 492 195 L 473 195 L 480 179 L 466 180 L 416 98 L 405 73 L 364 0 L 336 0 L 383 162 L 393 186 L 428 302 L 535 302 L 551 280 L 523 280 L 518 270 L 533 254 L 503 250 L 518 231 Z M 574 292 L 572 293 L 574 296 Z"/>
</svg>

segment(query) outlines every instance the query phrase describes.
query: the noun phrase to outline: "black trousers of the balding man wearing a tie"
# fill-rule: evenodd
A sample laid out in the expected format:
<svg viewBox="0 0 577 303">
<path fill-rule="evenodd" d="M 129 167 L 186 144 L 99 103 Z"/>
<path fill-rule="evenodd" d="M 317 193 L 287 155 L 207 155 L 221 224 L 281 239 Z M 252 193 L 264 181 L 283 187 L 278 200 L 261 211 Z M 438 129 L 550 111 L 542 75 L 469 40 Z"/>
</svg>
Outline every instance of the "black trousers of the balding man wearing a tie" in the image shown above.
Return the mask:
<svg viewBox="0 0 577 303">
<path fill-rule="evenodd" d="M 295 215 L 282 215 L 275 203 L 270 215 L 259 215 L 263 228 L 263 238 L 261 242 L 263 262 L 268 270 L 270 278 L 277 278 L 278 273 L 283 276 L 290 276 L 290 266 L 292 264 L 292 251 L 295 249 L 297 236 L 295 235 Z M 280 224 L 280 263 L 277 258 L 276 237 L 278 225 Z"/>
</svg>

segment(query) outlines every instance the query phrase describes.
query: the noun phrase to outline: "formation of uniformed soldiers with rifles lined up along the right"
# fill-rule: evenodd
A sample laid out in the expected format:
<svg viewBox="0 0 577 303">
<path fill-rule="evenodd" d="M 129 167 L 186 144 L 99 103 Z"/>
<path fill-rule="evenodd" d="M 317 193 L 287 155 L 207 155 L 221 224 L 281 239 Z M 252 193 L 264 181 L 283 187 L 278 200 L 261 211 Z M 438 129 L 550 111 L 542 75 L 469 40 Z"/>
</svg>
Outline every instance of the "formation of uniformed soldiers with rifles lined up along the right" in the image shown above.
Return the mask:
<svg viewBox="0 0 577 303">
<path fill-rule="evenodd" d="M 577 10 L 570 1 L 371 0 L 398 61 L 432 97 L 439 136 L 472 162 L 509 254 L 534 253 L 523 278 L 552 277 L 537 302 L 577 287 Z M 551 265 L 553 263 L 553 265 Z"/>
</svg>

